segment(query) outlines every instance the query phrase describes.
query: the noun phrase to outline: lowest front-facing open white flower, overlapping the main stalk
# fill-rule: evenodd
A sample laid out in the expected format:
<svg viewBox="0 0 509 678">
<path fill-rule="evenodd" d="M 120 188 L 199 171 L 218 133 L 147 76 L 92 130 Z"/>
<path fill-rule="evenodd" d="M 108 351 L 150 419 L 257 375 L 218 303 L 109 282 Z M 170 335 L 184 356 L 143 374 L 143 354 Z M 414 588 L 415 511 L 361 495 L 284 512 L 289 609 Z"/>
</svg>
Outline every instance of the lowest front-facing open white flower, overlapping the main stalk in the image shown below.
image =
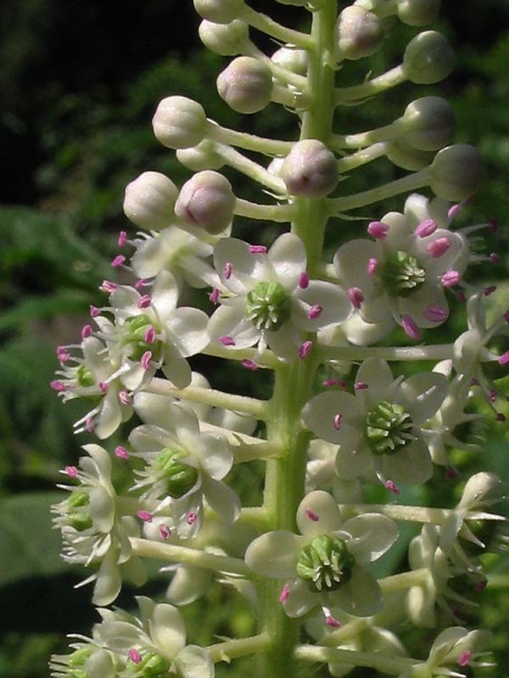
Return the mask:
<svg viewBox="0 0 509 678">
<path fill-rule="evenodd" d="M 317 605 L 326 618 L 333 606 L 358 617 L 380 610 L 380 588 L 367 568 L 395 542 L 396 524 L 379 514 L 343 520 L 332 497 L 317 490 L 300 502 L 297 525 L 300 535 L 267 532 L 246 551 L 255 572 L 285 581 L 287 615 L 301 617 Z"/>
</svg>

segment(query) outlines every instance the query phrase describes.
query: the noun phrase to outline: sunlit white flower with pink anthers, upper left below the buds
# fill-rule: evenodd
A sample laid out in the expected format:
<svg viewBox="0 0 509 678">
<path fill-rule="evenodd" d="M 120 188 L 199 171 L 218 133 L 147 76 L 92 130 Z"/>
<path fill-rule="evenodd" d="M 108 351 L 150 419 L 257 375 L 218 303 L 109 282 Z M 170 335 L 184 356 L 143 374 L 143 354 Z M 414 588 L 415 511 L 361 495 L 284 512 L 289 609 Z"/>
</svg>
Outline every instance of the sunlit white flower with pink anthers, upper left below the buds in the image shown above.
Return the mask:
<svg viewBox="0 0 509 678">
<path fill-rule="evenodd" d="M 158 369 L 178 388 L 191 381 L 186 358 L 208 345 L 208 317 L 194 308 L 177 308 L 177 282 L 170 272 L 161 271 L 150 295 L 118 286 L 110 295 L 108 309 L 113 321 L 96 318 L 99 336 L 122 365 L 121 379 L 129 390 L 147 385 Z"/>
</svg>

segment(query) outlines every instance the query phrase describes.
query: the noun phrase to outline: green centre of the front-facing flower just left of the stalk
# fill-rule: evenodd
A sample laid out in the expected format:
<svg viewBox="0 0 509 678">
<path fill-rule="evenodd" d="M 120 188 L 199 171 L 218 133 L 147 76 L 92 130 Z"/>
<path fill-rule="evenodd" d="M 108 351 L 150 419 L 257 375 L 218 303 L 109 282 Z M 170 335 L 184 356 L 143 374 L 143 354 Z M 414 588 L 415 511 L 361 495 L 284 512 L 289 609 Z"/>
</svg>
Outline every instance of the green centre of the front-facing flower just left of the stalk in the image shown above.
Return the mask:
<svg viewBox="0 0 509 678">
<path fill-rule="evenodd" d="M 277 330 L 290 315 L 291 299 L 280 282 L 257 282 L 247 295 L 246 317 L 259 330 Z"/>
</svg>

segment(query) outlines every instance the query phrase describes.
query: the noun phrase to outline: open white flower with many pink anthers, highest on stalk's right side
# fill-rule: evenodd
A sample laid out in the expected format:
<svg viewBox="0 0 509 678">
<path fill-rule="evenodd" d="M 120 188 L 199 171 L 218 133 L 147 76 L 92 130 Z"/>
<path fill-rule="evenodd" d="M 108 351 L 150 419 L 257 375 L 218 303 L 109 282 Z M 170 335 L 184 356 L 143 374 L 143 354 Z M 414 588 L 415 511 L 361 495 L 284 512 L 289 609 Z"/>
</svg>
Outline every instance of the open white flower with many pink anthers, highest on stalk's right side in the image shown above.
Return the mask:
<svg viewBox="0 0 509 678">
<path fill-rule="evenodd" d="M 370 223 L 373 240 L 351 240 L 336 252 L 336 272 L 358 309 L 345 325 L 353 343 L 371 343 L 397 325 L 418 339 L 421 328 L 447 319 L 443 288 L 460 281 L 469 251 L 467 239 L 447 229 L 447 207 L 412 195 L 405 215 Z"/>
</svg>

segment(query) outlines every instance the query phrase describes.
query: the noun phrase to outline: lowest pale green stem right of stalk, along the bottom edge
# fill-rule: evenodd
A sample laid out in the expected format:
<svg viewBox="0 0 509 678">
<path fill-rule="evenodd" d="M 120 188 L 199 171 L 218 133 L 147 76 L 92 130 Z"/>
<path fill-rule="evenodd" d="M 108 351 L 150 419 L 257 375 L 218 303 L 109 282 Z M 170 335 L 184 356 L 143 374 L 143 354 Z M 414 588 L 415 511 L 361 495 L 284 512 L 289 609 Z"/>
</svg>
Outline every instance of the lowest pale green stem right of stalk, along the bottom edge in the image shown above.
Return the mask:
<svg viewBox="0 0 509 678">
<path fill-rule="evenodd" d="M 359 652 L 357 650 L 341 650 L 310 645 L 297 647 L 295 654 L 298 659 L 303 661 L 365 666 L 393 676 L 399 676 L 416 665 L 422 664 L 419 659 L 410 659 L 409 657 L 393 657 L 381 652 Z"/>
</svg>

